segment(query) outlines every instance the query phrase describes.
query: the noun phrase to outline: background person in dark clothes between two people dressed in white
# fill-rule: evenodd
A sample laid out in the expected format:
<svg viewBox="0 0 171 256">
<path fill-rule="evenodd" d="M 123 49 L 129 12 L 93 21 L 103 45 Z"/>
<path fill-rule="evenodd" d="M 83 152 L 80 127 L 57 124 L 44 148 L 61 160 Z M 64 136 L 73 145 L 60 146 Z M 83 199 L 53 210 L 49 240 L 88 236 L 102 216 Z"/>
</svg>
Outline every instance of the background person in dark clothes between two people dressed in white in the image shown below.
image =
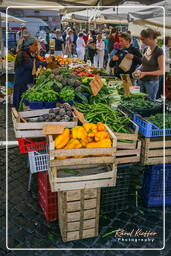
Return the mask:
<svg viewBox="0 0 171 256">
<path fill-rule="evenodd" d="M 88 41 L 87 41 L 87 48 L 88 48 L 88 57 L 93 64 L 94 56 L 96 53 L 96 32 L 94 30 L 90 31 Z"/>
</svg>

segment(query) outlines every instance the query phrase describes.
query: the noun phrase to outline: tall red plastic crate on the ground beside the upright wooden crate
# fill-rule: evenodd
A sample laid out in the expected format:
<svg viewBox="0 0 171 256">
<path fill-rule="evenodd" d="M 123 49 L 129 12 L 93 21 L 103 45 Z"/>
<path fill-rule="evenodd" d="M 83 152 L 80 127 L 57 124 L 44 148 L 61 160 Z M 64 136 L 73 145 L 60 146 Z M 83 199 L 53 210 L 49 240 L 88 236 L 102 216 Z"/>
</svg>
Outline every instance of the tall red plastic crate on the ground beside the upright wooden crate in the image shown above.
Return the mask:
<svg viewBox="0 0 171 256">
<path fill-rule="evenodd" d="M 38 200 L 46 220 L 57 220 L 57 192 L 50 190 L 48 172 L 38 173 Z"/>
</svg>

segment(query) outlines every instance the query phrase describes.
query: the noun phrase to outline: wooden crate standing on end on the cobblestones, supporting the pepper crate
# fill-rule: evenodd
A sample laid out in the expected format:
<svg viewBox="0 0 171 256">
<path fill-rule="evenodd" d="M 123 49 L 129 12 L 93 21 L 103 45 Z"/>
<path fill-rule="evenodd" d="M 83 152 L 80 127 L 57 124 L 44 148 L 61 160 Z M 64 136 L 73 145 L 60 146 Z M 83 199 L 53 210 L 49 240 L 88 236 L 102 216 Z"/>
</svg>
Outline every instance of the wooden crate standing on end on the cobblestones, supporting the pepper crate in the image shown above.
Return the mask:
<svg viewBox="0 0 171 256">
<path fill-rule="evenodd" d="M 59 192 L 58 209 L 64 242 L 98 236 L 99 188 Z"/>
</svg>

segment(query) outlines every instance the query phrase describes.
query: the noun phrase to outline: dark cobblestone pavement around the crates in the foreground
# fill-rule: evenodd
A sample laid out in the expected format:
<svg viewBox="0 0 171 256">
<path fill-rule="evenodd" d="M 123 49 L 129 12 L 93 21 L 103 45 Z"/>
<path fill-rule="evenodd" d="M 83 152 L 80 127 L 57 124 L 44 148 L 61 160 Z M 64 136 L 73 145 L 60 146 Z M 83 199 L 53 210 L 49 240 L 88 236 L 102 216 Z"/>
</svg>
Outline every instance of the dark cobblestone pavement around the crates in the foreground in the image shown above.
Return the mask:
<svg viewBox="0 0 171 256">
<path fill-rule="evenodd" d="M 1 116 L 2 120 L 2 116 Z M 1 124 L 2 125 L 2 124 Z M 8 150 L 8 248 L 23 248 L 21 251 L 5 247 L 5 149 L 0 148 L 0 256 L 170 256 L 171 255 L 171 207 L 166 207 L 166 248 L 159 251 L 91 251 L 87 248 L 161 248 L 163 236 L 163 212 L 161 208 L 147 208 L 139 200 L 130 196 L 128 209 L 114 211 L 111 215 L 100 216 L 100 235 L 91 239 L 64 243 L 61 240 L 58 222 L 47 222 L 37 203 L 37 175 L 33 175 L 31 191 L 27 191 L 29 167 L 26 154 L 20 154 L 18 147 Z M 132 167 L 130 193 L 134 194 L 135 184 L 142 179 L 142 166 Z M 157 232 L 154 242 L 118 241 L 114 235 L 103 238 L 102 235 L 123 228 L 130 231 L 142 229 Z M 62 251 L 26 251 L 24 248 L 62 248 Z M 65 249 L 84 248 L 85 251 L 67 251 Z"/>
</svg>

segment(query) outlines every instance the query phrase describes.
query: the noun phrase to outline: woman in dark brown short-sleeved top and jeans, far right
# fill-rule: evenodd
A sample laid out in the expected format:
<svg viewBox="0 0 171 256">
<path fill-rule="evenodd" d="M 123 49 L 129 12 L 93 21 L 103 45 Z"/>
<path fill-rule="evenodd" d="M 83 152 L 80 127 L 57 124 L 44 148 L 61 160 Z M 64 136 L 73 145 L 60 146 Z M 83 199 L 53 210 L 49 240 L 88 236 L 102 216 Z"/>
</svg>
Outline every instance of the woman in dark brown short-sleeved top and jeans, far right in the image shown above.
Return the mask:
<svg viewBox="0 0 171 256">
<path fill-rule="evenodd" d="M 141 40 L 147 45 L 139 68 L 139 82 L 141 92 L 147 93 L 151 100 L 156 99 L 159 89 L 159 76 L 163 75 L 163 50 L 157 45 L 159 31 L 151 28 L 141 31 Z"/>
</svg>

